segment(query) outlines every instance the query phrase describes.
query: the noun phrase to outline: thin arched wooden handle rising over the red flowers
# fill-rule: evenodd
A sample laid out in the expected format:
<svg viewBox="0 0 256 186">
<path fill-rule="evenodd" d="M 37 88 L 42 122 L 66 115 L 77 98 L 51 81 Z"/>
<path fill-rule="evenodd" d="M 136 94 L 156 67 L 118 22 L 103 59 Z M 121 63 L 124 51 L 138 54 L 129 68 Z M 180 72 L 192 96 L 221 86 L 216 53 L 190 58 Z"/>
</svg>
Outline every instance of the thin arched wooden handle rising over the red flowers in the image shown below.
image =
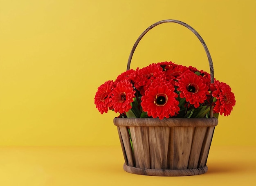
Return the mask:
<svg viewBox="0 0 256 186">
<path fill-rule="evenodd" d="M 129 56 L 129 59 L 128 59 L 128 63 L 127 63 L 127 69 L 126 70 L 129 70 L 130 69 L 130 63 L 131 63 L 131 60 L 132 60 L 132 55 L 137 47 L 137 45 L 139 44 L 139 41 L 141 40 L 141 38 L 152 28 L 154 28 L 155 26 L 157 25 L 160 25 L 162 23 L 165 23 L 165 22 L 175 22 L 175 23 L 178 23 L 180 25 L 183 25 L 184 27 L 190 29 L 194 34 L 195 36 L 198 37 L 198 39 L 200 40 L 200 42 L 202 43 L 203 47 L 204 47 L 204 50 L 207 54 L 207 57 L 208 57 L 208 61 L 209 61 L 209 66 L 210 66 L 210 73 L 211 73 L 211 83 L 214 83 L 214 73 L 213 73 L 213 63 L 212 63 L 212 59 L 211 59 L 211 55 L 210 55 L 210 52 L 206 46 L 206 44 L 204 43 L 204 40 L 203 38 L 198 34 L 197 31 L 195 31 L 195 29 L 193 29 L 191 26 L 189 26 L 188 24 L 182 22 L 182 21 L 179 21 L 179 20 L 173 20 L 173 19 L 168 19 L 168 20 L 162 20 L 162 21 L 158 21 L 156 22 L 155 24 L 151 25 L 150 27 L 148 27 L 140 36 L 139 38 L 136 40 L 135 44 L 133 45 L 132 47 L 132 50 L 130 52 L 130 56 Z"/>
</svg>

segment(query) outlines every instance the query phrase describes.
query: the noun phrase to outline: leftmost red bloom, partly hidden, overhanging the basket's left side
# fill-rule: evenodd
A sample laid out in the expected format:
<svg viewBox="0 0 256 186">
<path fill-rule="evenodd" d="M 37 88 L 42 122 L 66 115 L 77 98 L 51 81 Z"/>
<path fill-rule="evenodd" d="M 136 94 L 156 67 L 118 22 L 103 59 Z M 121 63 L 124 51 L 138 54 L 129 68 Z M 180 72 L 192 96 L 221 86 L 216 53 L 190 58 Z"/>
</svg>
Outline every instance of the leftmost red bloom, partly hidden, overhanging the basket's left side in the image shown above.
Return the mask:
<svg viewBox="0 0 256 186">
<path fill-rule="evenodd" d="M 113 81 L 106 81 L 104 84 L 99 86 L 98 91 L 94 97 L 94 104 L 96 108 L 103 114 L 108 112 L 108 109 L 112 106 L 110 102 L 110 94 L 113 90 Z"/>
</svg>

